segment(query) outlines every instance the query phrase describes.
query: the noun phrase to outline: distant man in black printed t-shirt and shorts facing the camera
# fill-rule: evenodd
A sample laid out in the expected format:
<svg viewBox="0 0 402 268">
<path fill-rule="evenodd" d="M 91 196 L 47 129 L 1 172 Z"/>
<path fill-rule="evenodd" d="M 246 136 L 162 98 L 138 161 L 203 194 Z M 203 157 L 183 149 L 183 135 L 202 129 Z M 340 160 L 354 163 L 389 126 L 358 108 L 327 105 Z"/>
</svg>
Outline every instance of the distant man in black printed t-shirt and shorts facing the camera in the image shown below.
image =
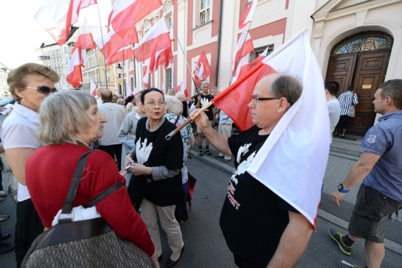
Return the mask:
<svg viewBox="0 0 402 268">
<path fill-rule="evenodd" d="M 202 108 L 205 104 L 210 102 L 214 96 L 209 93 L 210 84 L 207 81 L 201 83 L 202 92 L 200 92 L 197 97 L 195 98 L 194 105 L 195 108 Z M 209 109 L 205 110 L 205 113 L 208 116 L 208 121 L 211 126 L 214 125 L 215 120 L 215 113 L 214 113 L 214 106 L 211 106 Z M 203 131 L 199 127 L 197 127 L 198 133 L 198 156 L 204 156 L 203 153 Z M 210 151 L 210 141 L 207 137 L 205 137 L 205 154 L 207 156 L 212 155 Z"/>
</svg>

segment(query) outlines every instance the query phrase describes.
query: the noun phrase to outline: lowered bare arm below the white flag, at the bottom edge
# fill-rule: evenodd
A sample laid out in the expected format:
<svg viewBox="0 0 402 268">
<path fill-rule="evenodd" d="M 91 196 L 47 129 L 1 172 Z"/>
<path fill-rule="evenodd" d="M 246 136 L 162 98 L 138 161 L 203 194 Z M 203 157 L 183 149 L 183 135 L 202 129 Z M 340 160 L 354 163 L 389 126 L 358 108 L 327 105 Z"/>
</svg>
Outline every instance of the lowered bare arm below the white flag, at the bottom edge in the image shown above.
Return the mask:
<svg viewBox="0 0 402 268">
<path fill-rule="evenodd" d="M 300 213 L 290 211 L 288 213 L 289 223 L 267 267 L 293 267 L 310 241 L 313 233 L 311 223 Z"/>
</svg>

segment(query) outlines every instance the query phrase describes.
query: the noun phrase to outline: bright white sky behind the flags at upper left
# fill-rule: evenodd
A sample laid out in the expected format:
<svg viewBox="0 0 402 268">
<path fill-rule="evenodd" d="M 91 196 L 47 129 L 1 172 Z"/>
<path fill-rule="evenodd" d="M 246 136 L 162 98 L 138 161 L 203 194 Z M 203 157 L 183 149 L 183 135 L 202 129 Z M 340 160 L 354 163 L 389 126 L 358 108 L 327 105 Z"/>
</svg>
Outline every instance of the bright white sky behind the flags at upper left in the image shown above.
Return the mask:
<svg viewBox="0 0 402 268">
<path fill-rule="evenodd" d="M 0 26 L 0 63 L 7 68 L 13 69 L 27 62 L 37 62 L 35 49 L 40 48 L 42 43 L 56 43 L 52 36 L 33 18 L 44 2 L 45 0 L 0 1 L 0 20 L 2 23 Z M 106 26 L 111 10 L 111 1 L 98 0 L 97 2 L 102 25 Z M 90 27 L 99 27 L 96 5 L 82 9 L 74 26 L 82 26 L 84 18 Z M 0 64 L 0 68 L 3 67 L 2 64 Z"/>
</svg>

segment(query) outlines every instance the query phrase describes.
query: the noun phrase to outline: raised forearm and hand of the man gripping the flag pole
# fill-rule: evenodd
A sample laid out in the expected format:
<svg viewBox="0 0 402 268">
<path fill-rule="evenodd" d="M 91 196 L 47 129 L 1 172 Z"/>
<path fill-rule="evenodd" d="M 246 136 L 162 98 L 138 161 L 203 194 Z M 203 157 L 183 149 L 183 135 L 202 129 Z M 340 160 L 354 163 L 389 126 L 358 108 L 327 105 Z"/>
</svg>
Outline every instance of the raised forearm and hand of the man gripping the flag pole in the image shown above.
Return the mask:
<svg viewBox="0 0 402 268">
<path fill-rule="evenodd" d="M 195 112 L 197 111 L 198 110 L 195 110 Z M 210 126 L 208 116 L 204 111 L 199 113 L 199 115 L 194 119 L 194 123 L 203 130 L 204 136 L 207 137 L 215 149 L 227 156 L 233 156 L 229 148 L 228 138 L 221 135 Z"/>
</svg>

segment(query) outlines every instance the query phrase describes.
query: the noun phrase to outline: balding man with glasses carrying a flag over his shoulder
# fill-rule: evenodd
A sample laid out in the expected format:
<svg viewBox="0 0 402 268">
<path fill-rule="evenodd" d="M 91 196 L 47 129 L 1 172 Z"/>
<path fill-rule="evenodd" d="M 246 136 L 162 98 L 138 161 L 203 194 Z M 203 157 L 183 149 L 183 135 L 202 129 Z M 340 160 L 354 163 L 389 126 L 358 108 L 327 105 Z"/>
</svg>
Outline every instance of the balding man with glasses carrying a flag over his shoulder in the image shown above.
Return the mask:
<svg viewBox="0 0 402 268">
<path fill-rule="evenodd" d="M 246 172 L 276 124 L 301 94 L 302 85 L 290 75 L 263 77 L 248 104 L 255 125 L 230 138 L 215 131 L 205 113 L 195 118 L 217 150 L 235 156 L 237 170 L 228 186 L 220 226 L 239 267 L 293 266 L 313 232 L 305 216 Z"/>
</svg>

